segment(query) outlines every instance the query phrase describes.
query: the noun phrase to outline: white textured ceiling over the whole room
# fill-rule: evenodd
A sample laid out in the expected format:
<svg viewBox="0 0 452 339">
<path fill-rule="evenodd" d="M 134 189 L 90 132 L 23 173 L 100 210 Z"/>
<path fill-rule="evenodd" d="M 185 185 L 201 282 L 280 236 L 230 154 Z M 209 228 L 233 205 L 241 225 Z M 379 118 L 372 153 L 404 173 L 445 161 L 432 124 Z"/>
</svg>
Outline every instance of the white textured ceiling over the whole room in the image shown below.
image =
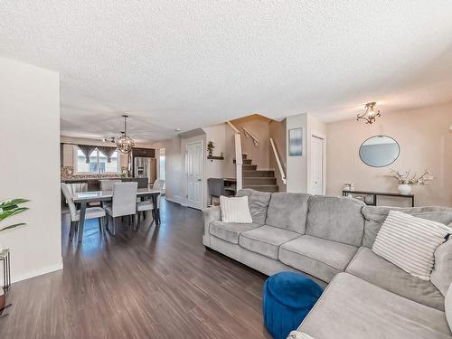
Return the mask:
<svg viewBox="0 0 452 339">
<path fill-rule="evenodd" d="M 452 99 L 452 1 L 0 2 L 0 56 L 60 72 L 61 134 L 158 140 L 259 113 Z"/>
</svg>

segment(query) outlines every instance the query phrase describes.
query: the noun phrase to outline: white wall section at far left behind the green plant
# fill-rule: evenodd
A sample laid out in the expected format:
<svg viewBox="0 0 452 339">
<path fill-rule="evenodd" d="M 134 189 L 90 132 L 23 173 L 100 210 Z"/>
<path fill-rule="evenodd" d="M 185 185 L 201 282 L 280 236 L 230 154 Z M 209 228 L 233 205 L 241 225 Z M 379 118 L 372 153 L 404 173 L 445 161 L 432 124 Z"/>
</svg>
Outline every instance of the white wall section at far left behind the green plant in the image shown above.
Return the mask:
<svg viewBox="0 0 452 339">
<path fill-rule="evenodd" d="M 2 221 L 27 225 L 0 233 L 18 281 L 62 268 L 58 73 L 0 58 L 0 112 L 0 200 L 31 200 Z"/>
</svg>

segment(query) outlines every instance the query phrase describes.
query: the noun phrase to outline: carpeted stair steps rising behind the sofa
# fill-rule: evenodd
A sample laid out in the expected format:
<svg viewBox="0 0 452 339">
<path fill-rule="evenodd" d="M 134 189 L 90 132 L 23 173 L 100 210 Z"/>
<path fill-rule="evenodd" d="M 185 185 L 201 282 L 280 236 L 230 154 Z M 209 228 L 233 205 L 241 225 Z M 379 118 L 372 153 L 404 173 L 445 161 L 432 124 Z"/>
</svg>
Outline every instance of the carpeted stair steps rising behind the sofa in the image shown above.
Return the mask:
<svg viewBox="0 0 452 339">
<path fill-rule="evenodd" d="M 278 192 L 275 171 L 259 171 L 258 165 L 252 164 L 252 159 L 248 159 L 246 154 L 243 154 L 242 156 L 243 188 L 252 188 L 253 190 L 261 192 Z"/>
</svg>

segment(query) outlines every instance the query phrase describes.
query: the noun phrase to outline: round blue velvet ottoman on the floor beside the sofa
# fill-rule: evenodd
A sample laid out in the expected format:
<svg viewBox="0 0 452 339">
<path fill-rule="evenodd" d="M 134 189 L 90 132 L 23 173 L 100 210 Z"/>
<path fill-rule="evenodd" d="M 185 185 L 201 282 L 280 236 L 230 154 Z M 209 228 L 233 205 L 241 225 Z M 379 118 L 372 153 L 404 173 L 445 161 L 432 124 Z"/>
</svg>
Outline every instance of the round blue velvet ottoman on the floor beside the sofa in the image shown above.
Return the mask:
<svg viewBox="0 0 452 339">
<path fill-rule="evenodd" d="M 262 292 L 268 333 L 275 339 L 286 339 L 305 319 L 322 292 L 322 287 L 303 274 L 280 272 L 269 277 Z"/>
</svg>

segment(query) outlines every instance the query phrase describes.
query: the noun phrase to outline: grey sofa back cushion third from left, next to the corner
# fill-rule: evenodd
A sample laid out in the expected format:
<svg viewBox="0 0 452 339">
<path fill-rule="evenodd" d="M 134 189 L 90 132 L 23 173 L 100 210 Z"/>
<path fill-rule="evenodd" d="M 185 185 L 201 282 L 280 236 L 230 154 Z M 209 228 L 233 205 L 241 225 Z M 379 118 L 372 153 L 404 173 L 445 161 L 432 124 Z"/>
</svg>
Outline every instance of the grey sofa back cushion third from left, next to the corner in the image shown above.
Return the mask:
<svg viewBox="0 0 452 339">
<path fill-rule="evenodd" d="M 338 196 L 314 195 L 309 198 L 306 234 L 314 237 L 361 246 L 364 203 Z"/>
</svg>

